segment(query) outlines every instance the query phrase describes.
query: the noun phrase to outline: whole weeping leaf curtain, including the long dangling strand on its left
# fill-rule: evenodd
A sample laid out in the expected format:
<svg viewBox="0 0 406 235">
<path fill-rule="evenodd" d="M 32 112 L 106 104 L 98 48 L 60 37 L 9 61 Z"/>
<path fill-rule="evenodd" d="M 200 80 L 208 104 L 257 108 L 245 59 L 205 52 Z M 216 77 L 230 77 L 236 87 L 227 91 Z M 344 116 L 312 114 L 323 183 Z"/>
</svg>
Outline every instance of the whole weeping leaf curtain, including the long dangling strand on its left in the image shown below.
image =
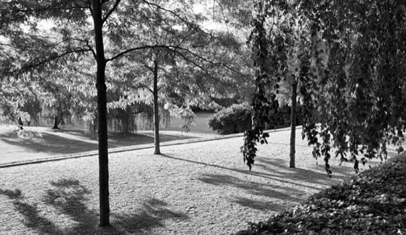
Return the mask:
<svg viewBox="0 0 406 235">
<path fill-rule="evenodd" d="M 250 167 L 255 141 L 266 142 L 256 125 L 267 120 L 260 113 L 276 103 L 265 88 L 292 76 L 289 71 L 296 71 L 301 82 L 302 137 L 314 145 L 313 157 L 324 156 L 327 176 L 332 156 L 353 161 L 358 172 L 360 161 L 386 158 L 388 144 L 403 151 L 405 1 L 259 0 L 256 9 L 250 38 L 258 68 L 254 121 L 242 148 Z M 276 27 L 266 31 L 266 22 L 275 21 Z"/>
</svg>

